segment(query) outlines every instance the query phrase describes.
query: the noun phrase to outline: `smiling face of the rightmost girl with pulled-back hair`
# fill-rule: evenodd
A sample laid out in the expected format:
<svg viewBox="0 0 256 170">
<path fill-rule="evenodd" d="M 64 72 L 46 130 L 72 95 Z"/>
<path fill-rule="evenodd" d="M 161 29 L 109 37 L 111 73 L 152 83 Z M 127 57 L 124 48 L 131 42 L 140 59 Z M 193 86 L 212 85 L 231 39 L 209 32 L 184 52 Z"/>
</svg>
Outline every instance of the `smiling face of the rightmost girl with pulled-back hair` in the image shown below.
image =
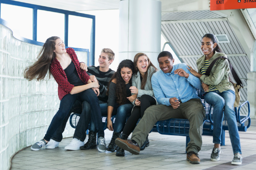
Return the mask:
<svg viewBox="0 0 256 170">
<path fill-rule="evenodd" d="M 216 47 L 217 43 L 213 43 L 211 38 L 203 37 L 201 41 L 201 49 L 204 55 L 208 58 L 211 58 L 214 55 L 214 48 Z"/>
</svg>

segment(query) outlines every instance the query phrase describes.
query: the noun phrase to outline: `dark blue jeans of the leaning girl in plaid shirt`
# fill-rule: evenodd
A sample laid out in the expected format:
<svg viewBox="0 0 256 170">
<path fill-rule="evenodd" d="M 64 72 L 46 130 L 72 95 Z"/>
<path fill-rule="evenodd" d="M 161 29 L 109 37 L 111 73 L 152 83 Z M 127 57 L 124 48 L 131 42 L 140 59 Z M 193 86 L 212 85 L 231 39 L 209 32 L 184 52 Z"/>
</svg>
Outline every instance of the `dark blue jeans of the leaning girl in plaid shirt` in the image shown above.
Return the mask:
<svg viewBox="0 0 256 170">
<path fill-rule="evenodd" d="M 51 124 L 44 136 L 45 140 L 50 141 L 51 137 L 54 135 L 56 130 L 61 125 L 63 125 L 63 121 L 65 122 L 66 118 L 70 115 L 70 110 L 76 100 L 87 101 L 87 102 L 89 102 L 90 107 L 94 108 L 91 110 L 92 120 L 96 124 L 96 128 L 98 130 L 98 135 L 104 137 L 104 130 L 103 130 L 102 123 L 101 123 L 101 111 L 100 111 L 100 107 L 99 107 L 99 99 L 98 99 L 97 95 L 95 94 L 94 90 L 92 90 L 90 88 L 90 89 L 84 90 L 78 94 L 74 94 L 74 95 L 67 94 L 62 98 L 61 103 L 60 103 L 60 108 L 57 111 L 57 113 L 53 116 Z M 84 111 L 82 111 L 82 112 L 84 112 Z M 78 124 L 79 124 L 79 122 L 82 122 L 82 120 L 81 121 L 79 120 Z"/>
</svg>

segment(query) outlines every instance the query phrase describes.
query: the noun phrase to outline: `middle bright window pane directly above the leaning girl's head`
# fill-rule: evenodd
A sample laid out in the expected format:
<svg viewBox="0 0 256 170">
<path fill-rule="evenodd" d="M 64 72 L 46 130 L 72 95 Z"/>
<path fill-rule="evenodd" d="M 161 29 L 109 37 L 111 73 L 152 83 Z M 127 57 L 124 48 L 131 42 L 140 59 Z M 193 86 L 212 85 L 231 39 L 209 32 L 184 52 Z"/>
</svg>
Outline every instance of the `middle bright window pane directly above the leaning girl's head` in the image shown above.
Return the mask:
<svg viewBox="0 0 256 170">
<path fill-rule="evenodd" d="M 37 41 L 44 43 L 51 36 L 65 40 L 65 15 L 57 12 L 37 11 Z"/>
</svg>

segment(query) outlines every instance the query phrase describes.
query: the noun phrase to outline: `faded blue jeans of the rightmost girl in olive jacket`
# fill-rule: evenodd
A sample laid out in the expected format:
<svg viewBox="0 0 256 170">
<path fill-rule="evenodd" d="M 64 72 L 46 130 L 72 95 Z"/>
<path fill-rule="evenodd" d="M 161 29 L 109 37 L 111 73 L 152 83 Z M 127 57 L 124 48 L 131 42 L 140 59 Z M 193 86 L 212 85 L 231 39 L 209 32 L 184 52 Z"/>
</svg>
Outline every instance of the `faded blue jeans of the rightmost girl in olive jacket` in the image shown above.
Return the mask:
<svg viewBox="0 0 256 170">
<path fill-rule="evenodd" d="M 234 111 L 235 92 L 226 90 L 210 91 L 205 94 L 204 99 L 213 106 L 213 143 L 221 143 L 223 111 L 228 123 L 228 132 L 234 154 L 241 154 L 240 137 L 238 133 L 237 120 Z"/>
</svg>

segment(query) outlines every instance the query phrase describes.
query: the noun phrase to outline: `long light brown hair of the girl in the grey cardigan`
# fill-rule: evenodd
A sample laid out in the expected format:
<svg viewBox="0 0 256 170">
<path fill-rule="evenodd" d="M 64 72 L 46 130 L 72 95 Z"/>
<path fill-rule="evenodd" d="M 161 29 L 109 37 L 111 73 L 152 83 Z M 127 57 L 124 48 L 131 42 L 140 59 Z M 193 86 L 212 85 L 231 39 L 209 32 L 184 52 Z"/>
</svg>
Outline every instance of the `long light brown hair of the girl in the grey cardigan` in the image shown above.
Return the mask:
<svg viewBox="0 0 256 170">
<path fill-rule="evenodd" d="M 137 67 L 137 62 L 138 62 L 138 58 L 141 57 L 141 56 L 146 56 L 146 54 L 144 53 L 137 53 L 135 56 L 134 56 L 134 59 L 133 59 L 133 62 L 134 62 L 134 74 L 136 74 L 139 70 L 138 70 L 138 67 Z M 147 71 L 145 72 L 144 76 L 143 76 L 143 79 L 142 79 L 142 84 L 141 84 L 141 89 L 144 89 L 145 87 L 145 84 L 147 82 L 147 74 L 148 74 L 148 69 L 150 66 L 154 67 L 155 70 L 157 71 L 157 68 L 153 65 L 152 62 L 150 62 L 149 58 L 147 57 L 147 61 L 148 61 L 148 67 L 147 67 Z"/>
</svg>

